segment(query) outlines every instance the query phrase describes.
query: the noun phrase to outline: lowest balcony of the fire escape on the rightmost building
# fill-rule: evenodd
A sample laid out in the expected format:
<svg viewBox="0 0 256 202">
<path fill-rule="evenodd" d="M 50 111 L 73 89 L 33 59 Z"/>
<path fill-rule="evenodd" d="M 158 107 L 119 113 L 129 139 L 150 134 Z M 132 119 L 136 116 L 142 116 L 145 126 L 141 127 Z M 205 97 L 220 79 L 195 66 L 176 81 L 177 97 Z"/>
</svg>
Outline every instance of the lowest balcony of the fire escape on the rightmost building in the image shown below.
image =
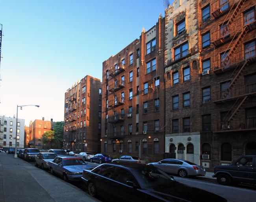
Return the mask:
<svg viewBox="0 0 256 202">
<path fill-rule="evenodd" d="M 256 118 L 213 123 L 213 132 L 256 130 Z"/>
</svg>

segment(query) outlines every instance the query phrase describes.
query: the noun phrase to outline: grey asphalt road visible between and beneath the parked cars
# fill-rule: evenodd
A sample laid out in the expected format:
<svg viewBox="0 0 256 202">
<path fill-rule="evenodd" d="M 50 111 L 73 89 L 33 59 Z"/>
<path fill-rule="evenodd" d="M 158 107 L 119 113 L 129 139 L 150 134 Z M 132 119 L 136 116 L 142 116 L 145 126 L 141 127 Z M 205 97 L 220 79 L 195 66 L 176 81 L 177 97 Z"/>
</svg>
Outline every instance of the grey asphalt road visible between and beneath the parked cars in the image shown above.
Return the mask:
<svg viewBox="0 0 256 202">
<path fill-rule="evenodd" d="M 30 163 L 35 165 L 35 162 L 30 162 Z M 91 162 L 86 162 L 86 163 L 88 163 L 88 165 L 92 167 L 96 167 L 100 165 L 98 163 L 91 163 Z M 50 170 L 46 170 L 46 172 L 50 174 Z M 56 175 L 56 177 L 59 177 L 59 176 Z M 232 186 L 225 186 L 225 185 L 218 184 L 216 180 L 199 178 L 199 177 L 181 178 L 178 176 L 174 176 L 174 179 L 180 183 L 190 185 L 193 187 L 198 187 L 200 189 L 204 189 L 206 191 L 210 191 L 212 193 L 220 195 L 226 198 L 228 202 L 241 202 L 241 201 L 251 202 L 251 201 L 255 201 L 255 198 L 256 198 L 256 186 L 253 186 L 253 185 L 238 184 L 238 185 L 232 185 Z M 70 182 L 70 183 L 88 193 L 87 187 L 82 181 Z M 106 201 L 104 198 L 98 198 L 98 200 Z"/>
</svg>

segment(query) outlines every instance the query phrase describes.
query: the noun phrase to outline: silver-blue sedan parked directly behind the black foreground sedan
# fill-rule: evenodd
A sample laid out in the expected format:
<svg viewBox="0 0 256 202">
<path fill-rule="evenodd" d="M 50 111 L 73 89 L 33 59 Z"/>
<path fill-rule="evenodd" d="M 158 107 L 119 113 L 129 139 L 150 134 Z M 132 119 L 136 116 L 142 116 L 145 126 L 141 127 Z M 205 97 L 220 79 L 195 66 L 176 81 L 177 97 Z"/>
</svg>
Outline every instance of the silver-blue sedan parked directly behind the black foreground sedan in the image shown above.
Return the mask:
<svg viewBox="0 0 256 202">
<path fill-rule="evenodd" d="M 81 158 L 75 156 L 57 156 L 53 161 L 48 162 L 51 173 L 62 176 L 63 180 L 81 180 L 84 169 L 92 169 Z"/>
</svg>

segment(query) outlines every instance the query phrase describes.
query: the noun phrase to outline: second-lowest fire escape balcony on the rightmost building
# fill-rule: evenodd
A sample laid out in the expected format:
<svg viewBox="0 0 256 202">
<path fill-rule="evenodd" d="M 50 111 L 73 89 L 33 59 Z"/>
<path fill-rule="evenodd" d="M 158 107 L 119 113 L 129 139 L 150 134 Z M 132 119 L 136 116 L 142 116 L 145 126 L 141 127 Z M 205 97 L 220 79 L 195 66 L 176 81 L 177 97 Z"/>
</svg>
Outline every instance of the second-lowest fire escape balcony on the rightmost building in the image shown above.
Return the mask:
<svg viewBox="0 0 256 202">
<path fill-rule="evenodd" d="M 256 82 L 213 92 L 213 103 L 224 103 L 246 95 L 256 96 Z"/>
</svg>

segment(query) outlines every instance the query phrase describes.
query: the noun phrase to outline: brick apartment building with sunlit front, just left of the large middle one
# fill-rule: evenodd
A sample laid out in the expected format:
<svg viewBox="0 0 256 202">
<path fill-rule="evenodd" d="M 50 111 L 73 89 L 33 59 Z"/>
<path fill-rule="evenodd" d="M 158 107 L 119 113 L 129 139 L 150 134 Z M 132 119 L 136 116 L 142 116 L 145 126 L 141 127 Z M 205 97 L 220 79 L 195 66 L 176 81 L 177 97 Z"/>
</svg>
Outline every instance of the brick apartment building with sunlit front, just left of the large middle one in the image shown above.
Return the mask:
<svg viewBox="0 0 256 202">
<path fill-rule="evenodd" d="M 85 76 L 65 93 L 63 148 L 100 153 L 102 83 Z"/>
</svg>

